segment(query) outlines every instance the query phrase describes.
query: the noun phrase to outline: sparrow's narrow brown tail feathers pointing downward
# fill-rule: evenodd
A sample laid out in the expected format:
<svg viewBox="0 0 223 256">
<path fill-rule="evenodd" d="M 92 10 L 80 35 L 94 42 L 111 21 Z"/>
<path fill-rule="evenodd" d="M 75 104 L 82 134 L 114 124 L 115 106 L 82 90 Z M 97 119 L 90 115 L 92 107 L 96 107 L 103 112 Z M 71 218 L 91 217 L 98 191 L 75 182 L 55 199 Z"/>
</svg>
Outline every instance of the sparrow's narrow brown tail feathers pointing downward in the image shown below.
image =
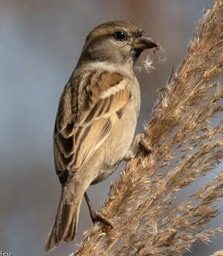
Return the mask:
<svg viewBox="0 0 223 256">
<path fill-rule="evenodd" d="M 45 243 L 46 251 L 56 248 L 62 240 L 69 243 L 74 241 L 77 234 L 80 205 L 85 191 L 79 189 L 77 192 L 75 193 L 73 184 L 62 188 L 54 225 Z"/>
</svg>

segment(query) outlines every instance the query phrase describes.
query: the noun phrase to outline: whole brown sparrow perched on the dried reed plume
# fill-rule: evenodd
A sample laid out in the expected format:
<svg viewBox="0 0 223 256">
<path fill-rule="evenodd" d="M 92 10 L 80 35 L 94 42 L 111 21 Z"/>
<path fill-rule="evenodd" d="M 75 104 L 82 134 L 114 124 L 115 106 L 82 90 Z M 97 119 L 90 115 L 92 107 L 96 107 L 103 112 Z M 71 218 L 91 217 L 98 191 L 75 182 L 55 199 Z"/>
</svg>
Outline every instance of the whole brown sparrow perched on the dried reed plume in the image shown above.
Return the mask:
<svg viewBox="0 0 223 256">
<path fill-rule="evenodd" d="M 106 22 L 88 34 L 56 114 L 54 164 L 62 192 L 46 251 L 74 241 L 83 196 L 93 222 L 112 227 L 86 190 L 131 159 L 139 143 L 149 150 L 143 133 L 134 138 L 140 86 L 133 67 L 143 50 L 157 46 L 133 22 Z"/>
</svg>

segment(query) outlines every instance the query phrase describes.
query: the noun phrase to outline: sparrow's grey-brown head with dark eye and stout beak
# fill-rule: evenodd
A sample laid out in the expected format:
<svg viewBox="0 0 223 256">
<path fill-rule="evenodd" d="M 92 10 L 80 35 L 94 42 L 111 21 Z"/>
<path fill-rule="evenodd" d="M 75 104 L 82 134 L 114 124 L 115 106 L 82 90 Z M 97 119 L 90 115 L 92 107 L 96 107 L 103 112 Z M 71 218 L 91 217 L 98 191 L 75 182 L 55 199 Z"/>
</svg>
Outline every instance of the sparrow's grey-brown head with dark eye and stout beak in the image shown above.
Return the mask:
<svg viewBox="0 0 223 256">
<path fill-rule="evenodd" d="M 88 34 L 80 60 L 133 66 L 143 50 L 156 46 L 133 22 L 106 22 Z"/>
</svg>

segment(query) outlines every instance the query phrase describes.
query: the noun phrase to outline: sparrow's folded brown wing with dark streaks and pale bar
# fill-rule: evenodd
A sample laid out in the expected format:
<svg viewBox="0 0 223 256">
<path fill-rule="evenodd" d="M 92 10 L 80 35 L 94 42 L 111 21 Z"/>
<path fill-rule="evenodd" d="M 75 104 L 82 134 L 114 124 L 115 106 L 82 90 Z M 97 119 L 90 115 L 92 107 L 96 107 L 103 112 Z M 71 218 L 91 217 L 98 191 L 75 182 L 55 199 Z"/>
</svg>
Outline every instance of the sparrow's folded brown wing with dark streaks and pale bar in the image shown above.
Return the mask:
<svg viewBox="0 0 223 256">
<path fill-rule="evenodd" d="M 100 70 L 71 77 L 59 100 L 54 129 L 59 175 L 83 166 L 108 138 L 130 98 L 119 73 Z"/>
</svg>

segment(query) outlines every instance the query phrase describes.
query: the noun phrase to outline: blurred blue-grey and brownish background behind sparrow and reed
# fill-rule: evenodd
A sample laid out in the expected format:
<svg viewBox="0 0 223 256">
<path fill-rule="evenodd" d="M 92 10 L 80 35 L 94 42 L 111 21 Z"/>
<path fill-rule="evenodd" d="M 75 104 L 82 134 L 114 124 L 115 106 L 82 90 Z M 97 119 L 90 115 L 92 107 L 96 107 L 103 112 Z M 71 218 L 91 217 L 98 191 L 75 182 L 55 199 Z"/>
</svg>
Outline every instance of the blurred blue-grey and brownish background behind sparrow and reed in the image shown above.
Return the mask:
<svg viewBox="0 0 223 256">
<path fill-rule="evenodd" d="M 155 63 L 155 70 L 149 74 L 143 69 L 135 72 L 143 92 L 137 129 L 141 132 L 158 97 L 156 89 L 165 86 L 172 67 L 181 63 L 196 22 L 213 4 L 213 0 L 141 0 L 140 4 L 133 0 L 0 1 L 1 252 L 46 255 L 44 243 L 60 195 L 54 173 L 54 118 L 59 96 L 88 32 L 109 20 L 132 20 L 164 48 L 165 63 Z M 105 182 L 89 188 L 96 209 L 100 210 L 110 182 L 119 173 L 120 168 Z M 213 176 L 215 173 L 210 174 L 210 178 Z M 91 225 L 83 202 L 77 240 L 74 244 L 62 243 L 48 255 L 74 252 Z M 219 225 L 222 215 L 207 228 Z M 206 256 L 218 249 L 222 249 L 222 235 L 209 245 L 195 243 L 187 255 Z"/>
</svg>

